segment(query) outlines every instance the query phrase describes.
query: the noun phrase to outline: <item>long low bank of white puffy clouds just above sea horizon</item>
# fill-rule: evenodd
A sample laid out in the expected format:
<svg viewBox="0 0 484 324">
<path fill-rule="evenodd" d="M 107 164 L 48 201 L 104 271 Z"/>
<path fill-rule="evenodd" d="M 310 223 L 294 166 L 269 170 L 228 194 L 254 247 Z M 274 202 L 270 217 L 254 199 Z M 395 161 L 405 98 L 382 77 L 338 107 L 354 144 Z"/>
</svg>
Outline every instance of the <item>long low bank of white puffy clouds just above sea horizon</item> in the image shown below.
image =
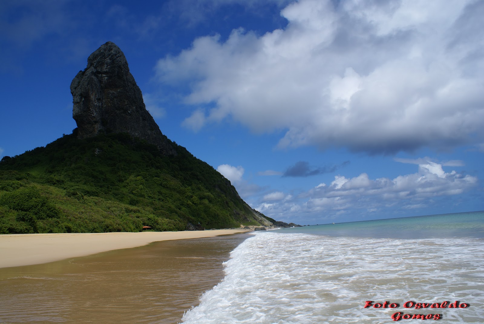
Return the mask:
<svg viewBox="0 0 484 324">
<path fill-rule="evenodd" d="M 367 173 L 349 178 L 336 175 L 330 184 L 320 183 L 297 197 L 285 197 L 284 201 L 270 200 L 269 194 L 257 208 L 271 217 L 313 212 L 334 216 L 348 210 L 374 212 L 398 206 L 418 209 L 434 203 L 438 197 L 460 195 L 477 185 L 475 176 L 454 170 L 445 172 L 442 164 L 424 158 L 422 161 L 417 172 L 393 179 L 370 179 Z M 281 194 L 277 198 L 281 198 Z"/>
</svg>

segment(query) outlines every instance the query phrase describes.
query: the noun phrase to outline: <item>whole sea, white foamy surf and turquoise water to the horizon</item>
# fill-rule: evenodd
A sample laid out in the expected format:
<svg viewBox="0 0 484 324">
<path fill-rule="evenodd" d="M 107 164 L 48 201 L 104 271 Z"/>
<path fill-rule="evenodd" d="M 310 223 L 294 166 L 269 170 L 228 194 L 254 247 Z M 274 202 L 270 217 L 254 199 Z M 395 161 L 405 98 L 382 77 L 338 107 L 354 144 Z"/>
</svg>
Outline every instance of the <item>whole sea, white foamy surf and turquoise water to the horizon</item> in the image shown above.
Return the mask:
<svg viewBox="0 0 484 324">
<path fill-rule="evenodd" d="M 254 232 L 224 267 L 181 323 L 484 323 L 484 212 Z"/>
</svg>

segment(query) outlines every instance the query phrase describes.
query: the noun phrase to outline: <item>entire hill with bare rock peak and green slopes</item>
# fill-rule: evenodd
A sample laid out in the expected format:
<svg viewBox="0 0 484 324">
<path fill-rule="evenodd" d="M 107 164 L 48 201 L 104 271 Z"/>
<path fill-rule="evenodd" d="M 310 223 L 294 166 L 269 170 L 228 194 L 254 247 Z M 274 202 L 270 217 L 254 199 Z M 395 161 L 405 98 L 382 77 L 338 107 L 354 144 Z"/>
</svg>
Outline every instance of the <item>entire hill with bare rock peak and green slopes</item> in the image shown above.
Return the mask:
<svg viewBox="0 0 484 324">
<path fill-rule="evenodd" d="M 251 208 L 212 166 L 162 134 L 121 49 L 71 83 L 72 134 L 0 161 L 0 233 L 289 227 Z"/>
</svg>

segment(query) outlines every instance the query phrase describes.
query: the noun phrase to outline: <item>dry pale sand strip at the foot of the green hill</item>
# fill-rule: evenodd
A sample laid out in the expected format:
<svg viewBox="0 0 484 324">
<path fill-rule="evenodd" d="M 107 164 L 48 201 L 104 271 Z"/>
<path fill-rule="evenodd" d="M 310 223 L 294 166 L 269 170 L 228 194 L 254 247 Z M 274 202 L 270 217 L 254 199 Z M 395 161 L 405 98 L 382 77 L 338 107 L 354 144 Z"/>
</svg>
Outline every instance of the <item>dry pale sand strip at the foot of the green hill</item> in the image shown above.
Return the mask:
<svg viewBox="0 0 484 324">
<path fill-rule="evenodd" d="M 41 233 L 0 235 L 0 268 L 42 264 L 152 242 L 214 237 L 250 230 Z"/>
</svg>

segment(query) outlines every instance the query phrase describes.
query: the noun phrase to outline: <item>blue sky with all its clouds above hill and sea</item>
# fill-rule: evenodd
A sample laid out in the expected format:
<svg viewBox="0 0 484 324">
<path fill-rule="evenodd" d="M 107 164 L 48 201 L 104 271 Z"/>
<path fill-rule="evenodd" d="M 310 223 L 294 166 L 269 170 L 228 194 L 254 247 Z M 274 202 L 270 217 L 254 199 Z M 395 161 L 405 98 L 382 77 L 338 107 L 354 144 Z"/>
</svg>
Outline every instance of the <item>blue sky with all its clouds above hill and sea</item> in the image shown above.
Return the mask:
<svg viewBox="0 0 484 324">
<path fill-rule="evenodd" d="M 301 225 L 484 210 L 484 0 L 3 0 L 0 157 L 112 41 L 169 139 Z"/>
</svg>

